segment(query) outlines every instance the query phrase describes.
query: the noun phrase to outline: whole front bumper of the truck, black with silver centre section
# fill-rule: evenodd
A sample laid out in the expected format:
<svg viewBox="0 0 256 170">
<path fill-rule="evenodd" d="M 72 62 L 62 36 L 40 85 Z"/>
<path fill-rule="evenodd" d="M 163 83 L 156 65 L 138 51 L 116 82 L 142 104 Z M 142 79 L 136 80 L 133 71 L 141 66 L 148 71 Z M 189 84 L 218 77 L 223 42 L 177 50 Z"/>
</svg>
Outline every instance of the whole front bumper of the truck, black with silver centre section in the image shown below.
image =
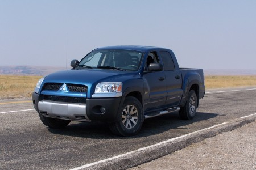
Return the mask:
<svg viewBox="0 0 256 170">
<path fill-rule="evenodd" d="M 32 95 L 34 108 L 46 117 L 88 122 L 112 122 L 117 118 L 121 97 L 86 99 L 86 103 L 43 100 L 42 95 Z"/>
</svg>

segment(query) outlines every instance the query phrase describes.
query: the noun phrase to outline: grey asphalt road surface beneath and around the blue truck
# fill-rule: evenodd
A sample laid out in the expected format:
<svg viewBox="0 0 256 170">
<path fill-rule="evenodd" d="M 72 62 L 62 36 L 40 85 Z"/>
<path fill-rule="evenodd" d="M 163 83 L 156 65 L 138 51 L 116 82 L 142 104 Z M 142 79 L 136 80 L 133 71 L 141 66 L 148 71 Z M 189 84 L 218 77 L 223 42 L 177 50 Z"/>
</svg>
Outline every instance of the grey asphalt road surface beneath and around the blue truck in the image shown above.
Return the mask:
<svg viewBox="0 0 256 170">
<path fill-rule="evenodd" d="M 218 92 L 221 91 L 221 92 Z M 135 137 L 116 137 L 101 122 L 48 129 L 30 100 L 0 101 L 0 169 L 72 169 L 256 113 L 256 87 L 207 91 L 196 117 L 144 121 Z M 13 112 L 17 111 L 17 112 Z M 122 165 L 120 165 L 122 166 Z"/>
</svg>

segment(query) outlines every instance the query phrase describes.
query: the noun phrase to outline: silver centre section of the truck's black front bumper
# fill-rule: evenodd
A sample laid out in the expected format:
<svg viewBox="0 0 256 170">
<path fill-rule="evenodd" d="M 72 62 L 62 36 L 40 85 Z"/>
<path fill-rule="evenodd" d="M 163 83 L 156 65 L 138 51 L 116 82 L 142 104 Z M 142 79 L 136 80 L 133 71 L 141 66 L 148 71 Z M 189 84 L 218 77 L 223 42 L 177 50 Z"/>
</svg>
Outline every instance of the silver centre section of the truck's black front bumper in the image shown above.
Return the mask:
<svg viewBox="0 0 256 170">
<path fill-rule="evenodd" d="M 65 103 L 42 100 L 38 102 L 38 110 L 40 114 L 46 117 L 72 121 L 90 121 L 86 114 L 85 103 Z"/>
</svg>

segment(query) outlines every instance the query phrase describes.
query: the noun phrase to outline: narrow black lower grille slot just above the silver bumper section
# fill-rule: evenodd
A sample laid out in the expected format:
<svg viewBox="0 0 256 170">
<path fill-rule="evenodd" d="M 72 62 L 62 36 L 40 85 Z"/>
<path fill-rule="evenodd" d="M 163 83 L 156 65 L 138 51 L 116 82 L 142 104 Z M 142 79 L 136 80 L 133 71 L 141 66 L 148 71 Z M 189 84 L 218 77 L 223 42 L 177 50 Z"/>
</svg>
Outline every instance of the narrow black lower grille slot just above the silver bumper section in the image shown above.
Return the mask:
<svg viewBox="0 0 256 170">
<path fill-rule="evenodd" d="M 86 103 L 86 98 L 67 97 L 67 96 L 43 95 L 43 100 L 61 101 L 61 102 L 68 102 L 68 103 Z"/>
</svg>

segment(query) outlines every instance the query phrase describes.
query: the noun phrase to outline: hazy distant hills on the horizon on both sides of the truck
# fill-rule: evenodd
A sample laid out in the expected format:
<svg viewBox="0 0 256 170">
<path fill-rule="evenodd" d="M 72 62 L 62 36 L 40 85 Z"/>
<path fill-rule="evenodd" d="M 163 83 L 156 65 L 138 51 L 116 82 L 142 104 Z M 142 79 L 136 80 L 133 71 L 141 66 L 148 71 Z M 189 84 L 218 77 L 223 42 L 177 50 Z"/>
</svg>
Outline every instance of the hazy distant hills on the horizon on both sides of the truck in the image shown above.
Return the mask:
<svg viewBox="0 0 256 170">
<path fill-rule="evenodd" d="M 65 67 L 48 66 L 0 66 L 0 74 L 10 75 L 48 75 L 55 71 L 65 70 Z M 69 66 L 68 69 L 71 69 Z M 255 70 L 245 69 L 204 69 L 205 75 L 256 75 Z"/>
</svg>

